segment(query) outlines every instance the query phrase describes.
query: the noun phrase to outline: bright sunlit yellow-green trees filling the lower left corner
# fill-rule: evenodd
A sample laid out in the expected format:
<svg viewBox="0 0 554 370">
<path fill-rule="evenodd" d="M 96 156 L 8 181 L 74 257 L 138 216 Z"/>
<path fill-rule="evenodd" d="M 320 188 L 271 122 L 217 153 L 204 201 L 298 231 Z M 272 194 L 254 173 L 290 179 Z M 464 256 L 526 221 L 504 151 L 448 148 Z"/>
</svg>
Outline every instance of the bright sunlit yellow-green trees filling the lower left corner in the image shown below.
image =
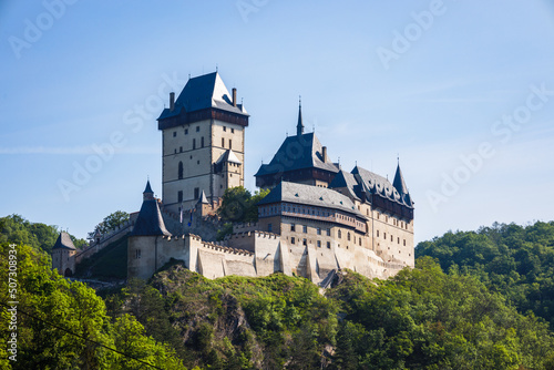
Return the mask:
<svg viewBox="0 0 554 370">
<path fill-rule="evenodd" d="M 8 296 L 8 244 L 0 247 L 0 300 Z M 104 301 L 82 282 L 70 282 L 50 269 L 49 258 L 25 245 L 17 245 L 18 265 L 18 357 L 2 369 L 143 369 L 136 362 L 107 348 L 164 369 L 182 369 L 179 360 L 166 345 L 145 337 L 134 318 L 125 317 L 114 325 L 106 316 Z M 8 310 L 1 309 L 0 335 L 6 343 Z M 102 345 L 102 346 L 100 346 Z M 6 350 L 3 349 L 6 352 Z"/>
</svg>

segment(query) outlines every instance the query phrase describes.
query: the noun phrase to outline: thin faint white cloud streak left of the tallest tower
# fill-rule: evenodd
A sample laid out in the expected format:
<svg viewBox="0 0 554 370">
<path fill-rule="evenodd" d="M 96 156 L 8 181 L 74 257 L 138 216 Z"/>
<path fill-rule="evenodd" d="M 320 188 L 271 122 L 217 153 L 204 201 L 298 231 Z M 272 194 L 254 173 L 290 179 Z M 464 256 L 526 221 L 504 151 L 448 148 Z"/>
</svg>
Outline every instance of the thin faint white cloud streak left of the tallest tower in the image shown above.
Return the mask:
<svg viewBox="0 0 554 370">
<path fill-rule="evenodd" d="M 158 147 L 136 146 L 114 148 L 115 154 L 160 154 Z M 3 155 L 52 154 L 52 155 L 89 155 L 98 154 L 92 146 L 16 146 L 0 147 Z"/>
</svg>

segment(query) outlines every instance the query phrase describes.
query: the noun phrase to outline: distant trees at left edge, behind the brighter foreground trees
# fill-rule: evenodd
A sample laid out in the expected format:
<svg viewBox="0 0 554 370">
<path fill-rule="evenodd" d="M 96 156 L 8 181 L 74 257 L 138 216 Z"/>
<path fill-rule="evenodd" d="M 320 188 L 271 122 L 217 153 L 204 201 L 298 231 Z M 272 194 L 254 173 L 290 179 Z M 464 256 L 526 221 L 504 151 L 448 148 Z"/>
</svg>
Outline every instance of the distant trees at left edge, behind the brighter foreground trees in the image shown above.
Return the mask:
<svg viewBox="0 0 554 370">
<path fill-rule="evenodd" d="M 25 244 L 50 254 L 61 229 L 58 226 L 31 223 L 20 215 L 0 218 L 0 243 Z M 70 234 L 76 248 L 86 245 L 86 240 L 78 239 Z"/>
</svg>

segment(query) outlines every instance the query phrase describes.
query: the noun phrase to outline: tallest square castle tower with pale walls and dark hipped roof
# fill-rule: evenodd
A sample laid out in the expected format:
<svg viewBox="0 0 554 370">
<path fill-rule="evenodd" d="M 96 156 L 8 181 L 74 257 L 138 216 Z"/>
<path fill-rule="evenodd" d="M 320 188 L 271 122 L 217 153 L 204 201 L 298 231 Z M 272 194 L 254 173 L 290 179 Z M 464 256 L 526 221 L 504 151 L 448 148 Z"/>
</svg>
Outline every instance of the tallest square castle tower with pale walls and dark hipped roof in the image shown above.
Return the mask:
<svg viewBox="0 0 554 370">
<path fill-rule="evenodd" d="M 195 207 L 202 192 L 217 207 L 225 189 L 244 186 L 248 117 L 217 72 L 189 79 L 157 119 L 162 131 L 162 199 L 165 209 Z"/>
</svg>

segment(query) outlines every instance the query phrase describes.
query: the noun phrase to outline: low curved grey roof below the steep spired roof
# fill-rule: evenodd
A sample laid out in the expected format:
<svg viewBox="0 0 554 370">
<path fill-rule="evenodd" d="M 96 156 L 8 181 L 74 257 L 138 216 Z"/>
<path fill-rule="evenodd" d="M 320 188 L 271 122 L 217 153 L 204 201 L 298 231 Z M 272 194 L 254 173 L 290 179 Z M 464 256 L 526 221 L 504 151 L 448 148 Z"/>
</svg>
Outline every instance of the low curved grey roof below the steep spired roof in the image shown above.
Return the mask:
<svg viewBox="0 0 554 370">
<path fill-rule="evenodd" d="M 280 182 L 258 205 L 280 202 L 340 209 L 366 218 L 349 197 L 326 187 Z"/>
</svg>

